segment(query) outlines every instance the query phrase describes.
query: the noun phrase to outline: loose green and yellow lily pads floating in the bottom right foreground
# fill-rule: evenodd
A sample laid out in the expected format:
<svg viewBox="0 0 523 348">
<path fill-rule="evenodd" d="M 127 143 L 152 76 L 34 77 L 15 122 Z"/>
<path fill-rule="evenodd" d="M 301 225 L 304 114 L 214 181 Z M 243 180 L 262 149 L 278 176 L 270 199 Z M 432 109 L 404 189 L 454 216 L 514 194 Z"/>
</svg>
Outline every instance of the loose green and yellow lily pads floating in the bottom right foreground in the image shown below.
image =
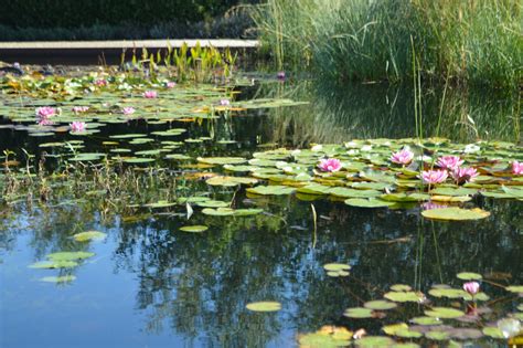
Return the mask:
<svg viewBox="0 0 523 348">
<path fill-rule="evenodd" d="M 330 276 L 349 275 L 350 265 L 329 263 L 324 265 Z M 516 312 L 497 317 L 488 300 L 489 295 L 480 292 L 482 275 L 472 272 L 461 272 L 457 277 L 463 283 L 462 288 L 452 288 L 446 284 L 436 284 L 428 294 L 414 291 L 409 285 L 395 284 L 384 294 L 383 298 L 363 303 L 361 307 L 346 308 L 343 315 L 352 319 L 384 319 L 399 306 L 416 304 L 423 315 L 410 318 L 407 323 L 387 324 L 382 327 L 386 336 L 367 335 L 364 328 L 355 331 L 343 326 L 323 326 L 316 333 L 300 334 L 300 347 L 344 347 L 355 344 L 357 347 L 420 347 L 418 342 L 448 341 L 460 347 L 460 340 L 493 339 L 515 341 L 521 333 L 523 305 Z M 490 282 L 490 284 L 492 284 Z M 501 285 L 497 285 L 501 286 Z M 523 294 L 523 286 L 501 286 L 509 295 Z M 461 302 L 456 302 L 461 300 Z M 441 306 L 439 303 L 449 303 Z M 253 312 L 277 312 L 281 309 L 278 302 L 266 300 L 247 304 Z"/>
</svg>

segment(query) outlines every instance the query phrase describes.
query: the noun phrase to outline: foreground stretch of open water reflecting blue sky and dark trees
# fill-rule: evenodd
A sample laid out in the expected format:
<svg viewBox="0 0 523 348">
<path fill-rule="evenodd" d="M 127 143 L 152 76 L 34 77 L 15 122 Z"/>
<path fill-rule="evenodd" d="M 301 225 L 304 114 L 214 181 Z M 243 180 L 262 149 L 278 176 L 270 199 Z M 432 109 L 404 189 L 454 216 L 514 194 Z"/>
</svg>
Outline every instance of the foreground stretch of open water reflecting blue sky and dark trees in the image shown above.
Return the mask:
<svg viewBox="0 0 523 348">
<path fill-rule="evenodd" d="M 15 243 L 2 252 L 0 265 L 2 344 L 291 346 L 298 331 L 324 324 L 363 326 L 377 333 L 380 323 L 346 320 L 342 313 L 360 306 L 360 299 L 381 298 L 394 283 L 417 282 L 425 291 L 441 281 L 460 286 L 455 278 L 460 271 L 510 272 L 512 284 L 521 282 L 521 264 L 514 264 L 521 260 L 521 207 L 516 202 L 500 202 L 501 211 L 482 222 L 433 223 L 404 211 L 367 211 L 316 201 L 322 217 L 316 247 L 309 204 L 275 201 L 268 210 L 282 214 L 287 224 L 273 228 L 264 215 L 234 221 L 196 213 L 192 223 L 210 226 L 204 234 L 178 232 L 185 224 L 178 218 L 130 225 L 110 219 L 104 225 L 85 221 L 86 229 L 105 231 L 108 239 L 90 244 L 87 250 L 96 256 L 74 270 L 77 278 L 63 286 L 38 281 L 57 271 L 26 265 L 41 260 L 35 250 L 47 253 L 68 245 L 67 220 L 78 211 L 56 210 L 54 217 L 61 222 L 49 234 L 38 232 L 43 214 L 21 217 L 32 221 L 33 228 L 8 231 L 18 231 L 12 233 Z M 307 230 L 289 228 L 292 225 Z M 394 241 L 401 238 L 407 240 Z M 421 259 L 417 256 L 419 245 L 424 245 Z M 329 262 L 352 264 L 351 276 L 325 277 L 322 265 Z M 488 285 L 484 288 L 499 294 Z M 254 314 L 245 309 L 246 303 L 262 299 L 281 302 L 282 310 Z M 406 314 L 419 312 L 410 308 Z M 396 315 L 388 320 L 405 318 Z"/>
</svg>

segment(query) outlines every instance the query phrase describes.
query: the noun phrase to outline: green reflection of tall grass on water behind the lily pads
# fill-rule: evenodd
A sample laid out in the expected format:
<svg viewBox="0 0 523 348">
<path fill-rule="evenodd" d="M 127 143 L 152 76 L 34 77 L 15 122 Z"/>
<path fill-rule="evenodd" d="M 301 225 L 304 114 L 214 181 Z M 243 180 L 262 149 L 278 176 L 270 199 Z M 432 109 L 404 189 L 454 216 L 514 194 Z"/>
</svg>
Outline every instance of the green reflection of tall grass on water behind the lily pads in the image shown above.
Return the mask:
<svg viewBox="0 0 523 348">
<path fill-rule="evenodd" d="M 260 94 L 311 101 L 305 107 L 269 110 L 271 141 L 306 146 L 309 143 L 343 143 L 352 138 L 417 137 L 414 127 L 414 93 L 403 85 L 344 86 L 302 82 Z M 521 141 L 517 96 L 485 94 L 472 88 L 423 88 L 419 122 L 423 137 L 439 135 L 460 143 L 479 139 Z M 445 93 L 445 99 L 444 99 Z M 440 116 L 441 115 L 441 116 Z"/>
</svg>

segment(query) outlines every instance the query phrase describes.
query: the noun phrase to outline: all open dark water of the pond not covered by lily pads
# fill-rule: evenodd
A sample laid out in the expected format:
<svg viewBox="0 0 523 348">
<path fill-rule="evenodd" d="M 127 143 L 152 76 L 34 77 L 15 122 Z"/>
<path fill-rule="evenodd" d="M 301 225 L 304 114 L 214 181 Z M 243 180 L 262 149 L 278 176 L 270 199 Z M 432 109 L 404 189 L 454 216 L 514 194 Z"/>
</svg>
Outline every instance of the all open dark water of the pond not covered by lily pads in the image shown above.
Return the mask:
<svg viewBox="0 0 523 348">
<path fill-rule="evenodd" d="M 427 93 L 426 135 L 435 135 L 440 93 Z M 274 141 L 300 147 L 414 136 L 408 91 L 352 86 L 337 94 L 314 94 L 310 86 L 273 85 L 245 91 L 243 97 L 265 95 L 307 98 L 311 104 L 190 125 L 189 136 L 214 134 L 238 144 L 188 145 L 186 152 L 247 156 L 256 145 Z M 479 94 L 463 97 L 455 91 L 446 98 L 451 105 L 444 104 L 441 135 L 467 143 L 478 137 L 520 140 L 513 99 L 488 99 Z M 473 127 L 460 123 L 467 114 Z M 164 126 L 115 127 L 141 131 Z M 116 130 L 105 127 L 96 141 L 86 140 L 88 149 L 96 149 L 105 135 L 122 129 Z M 2 149 L 23 147 L 36 152 L 41 141 L 23 131 L 0 129 Z M 205 190 L 202 182 L 191 186 Z M 140 190 L 152 192 L 154 184 L 143 184 Z M 419 315 L 418 306 L 406 305 L 384 321 L 342 316 L 346 307 L 381 298 L 392 284 L 421 291 L 440 283 L 459 287 L 462 282 L 456 273 L 461 271 L 501 277 L 499 282 L 510 284 L 523 280 L 519 201 L 476 198 L 472 203 L 490 211 L 490 218 L 434 222 L 420 217 L 419 207 L 365 210 L 295 197 L 252 200 L 244 190 L 232 197 L 230 191 L 214 189 L 212 196 L 234 199 L 238 207 L 260 207 L 266 213 L 249 218 L 195 213 L 190 224 L 210 228 L 198 234 L 179 232 L 186 220 L 172 213 L 183 215 L 183 207 L 128 222 L 125 211 L 115 213 L 104 204 L 104 197 L 89 198 L 81 191 L 47 204 L 29 200 L 0 205 L 0 346 L 292 347 L 298 333 L 314 331 L 322 325 L 364 327 L 380 334 L 384 323 Z M 318 215 L 316 233 L 311 203 Z M 96 256 L 72 271 L 74 282 L 39 282 L 60 272 L 26 267 L 47 253 L 77 250 L 71 235 L 87 230 L 105 232 L 108 238 L 84 244 Z M 351 276 L 328 277 L 322 265 L 329 262 L 351 264 Z M 502 294 L 488 283 L 482 287 L 491 297 Z M 267 299 L 280 302 L 282 309 L 273 314 L 245 309 L 247 303 Z M 517 300 L 505 299 L 492 306 L 506 310 L 516 305 Z"/>
</svg>

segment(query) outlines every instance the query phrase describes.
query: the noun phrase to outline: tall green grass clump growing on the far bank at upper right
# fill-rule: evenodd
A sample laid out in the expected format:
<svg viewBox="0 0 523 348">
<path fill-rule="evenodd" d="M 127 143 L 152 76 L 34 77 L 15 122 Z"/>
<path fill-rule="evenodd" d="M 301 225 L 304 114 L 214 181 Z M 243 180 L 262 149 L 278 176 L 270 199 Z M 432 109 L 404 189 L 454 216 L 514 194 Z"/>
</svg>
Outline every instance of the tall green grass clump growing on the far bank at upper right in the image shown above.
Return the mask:
<svg viewBox="0 0 523 348">
<path fill-rule="evenodd" d="M 270 0 L 255 21 L 279 67 L 309 64 L 334 80 L 408 81 L 414 46 L 425 78 L 514 86 L 522 15 L 517 0 Z"/>
</svg>

